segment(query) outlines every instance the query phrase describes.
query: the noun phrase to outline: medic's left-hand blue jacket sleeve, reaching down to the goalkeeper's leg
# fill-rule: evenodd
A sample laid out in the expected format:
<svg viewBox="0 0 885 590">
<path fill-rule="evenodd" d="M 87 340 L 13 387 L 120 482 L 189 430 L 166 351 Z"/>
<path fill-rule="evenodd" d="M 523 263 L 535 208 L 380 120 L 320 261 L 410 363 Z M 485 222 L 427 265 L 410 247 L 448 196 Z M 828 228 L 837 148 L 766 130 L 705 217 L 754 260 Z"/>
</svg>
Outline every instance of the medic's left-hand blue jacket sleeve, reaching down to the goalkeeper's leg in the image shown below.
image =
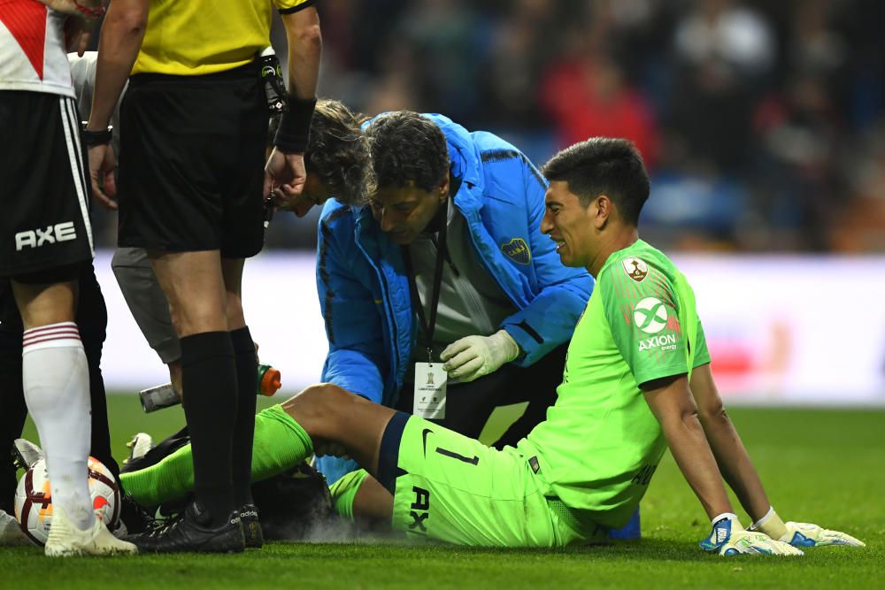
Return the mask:
<svg viewBox="0 0 885 590">
<path fill-rule="evenodd" d="M 339 210 L 341 211 L 341 210 Z M 329 351 L 322 379 L 381 403 L 387 360 L 381 336 L 381 316 L 372 291 L 355 276 L 352 264 L 336 240 L 326 215 L 319 222 L 317 292 L 326 325 Z M 350 228 L 345 228 L 350 229 Z M 351 253 L 355 248 L 351 248 Z"/>
</svg>

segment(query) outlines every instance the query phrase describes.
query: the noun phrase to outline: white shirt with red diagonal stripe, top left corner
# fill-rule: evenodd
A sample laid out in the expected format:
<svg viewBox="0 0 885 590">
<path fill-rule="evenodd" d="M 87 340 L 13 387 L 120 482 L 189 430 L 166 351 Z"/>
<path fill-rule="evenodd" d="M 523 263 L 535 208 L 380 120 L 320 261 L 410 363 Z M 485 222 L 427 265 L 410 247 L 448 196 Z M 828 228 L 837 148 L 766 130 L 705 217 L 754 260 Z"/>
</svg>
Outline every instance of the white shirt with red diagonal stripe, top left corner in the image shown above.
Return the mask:
<svg viewBox="0 0 885 590">
<path fill-rule="evenodd" d="M 37 0 L 0 0 L 0 90 L 74 97 L 65 18 Z"/>
</svg>

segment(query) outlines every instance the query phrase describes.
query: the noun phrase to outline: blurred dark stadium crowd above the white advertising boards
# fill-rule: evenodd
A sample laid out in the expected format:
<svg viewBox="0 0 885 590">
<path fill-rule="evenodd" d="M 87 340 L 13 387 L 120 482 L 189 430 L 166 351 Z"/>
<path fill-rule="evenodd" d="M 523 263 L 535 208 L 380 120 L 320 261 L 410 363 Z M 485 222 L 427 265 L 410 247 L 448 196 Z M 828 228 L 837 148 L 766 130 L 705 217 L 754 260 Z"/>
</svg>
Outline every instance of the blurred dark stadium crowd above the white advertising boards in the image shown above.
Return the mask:
<svg viewBox="0 0 885 590">
<path fill-rule="evenodd" d="M 322 94 L 358 111 L 443 112 L 535 162 L 590 135 L 633 140 L 655 190 L 679 203 L 643 213 L 668 248 L 885 249 L 877 0 L 329 0 L 318 10 Z M 268 245 L 312 248 L 318 215 L 281 216 Z"/>
</svg>

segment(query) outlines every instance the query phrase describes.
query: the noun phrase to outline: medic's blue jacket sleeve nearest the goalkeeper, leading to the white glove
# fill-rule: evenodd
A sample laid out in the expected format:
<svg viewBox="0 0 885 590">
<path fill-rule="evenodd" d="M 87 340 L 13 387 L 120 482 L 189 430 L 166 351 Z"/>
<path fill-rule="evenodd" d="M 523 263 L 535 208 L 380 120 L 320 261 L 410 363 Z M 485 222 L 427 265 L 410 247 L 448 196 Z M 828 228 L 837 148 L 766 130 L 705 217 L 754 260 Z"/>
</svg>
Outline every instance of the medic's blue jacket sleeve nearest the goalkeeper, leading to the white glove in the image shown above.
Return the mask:
<svg viewBox="0 0 885 590">
<path fill-rule="evenodd" d="M 547 183 L 526 157 L 520 157 L 529 249 L 537 295 L 527 307 L 502 322 L 525 353 L 514 361 L 528 366 L 572 338 L 574 326 L 593 291 L 593 278 L 583 268 L 563 266 L 556 244 L 541 233 Z"/>
</svg>

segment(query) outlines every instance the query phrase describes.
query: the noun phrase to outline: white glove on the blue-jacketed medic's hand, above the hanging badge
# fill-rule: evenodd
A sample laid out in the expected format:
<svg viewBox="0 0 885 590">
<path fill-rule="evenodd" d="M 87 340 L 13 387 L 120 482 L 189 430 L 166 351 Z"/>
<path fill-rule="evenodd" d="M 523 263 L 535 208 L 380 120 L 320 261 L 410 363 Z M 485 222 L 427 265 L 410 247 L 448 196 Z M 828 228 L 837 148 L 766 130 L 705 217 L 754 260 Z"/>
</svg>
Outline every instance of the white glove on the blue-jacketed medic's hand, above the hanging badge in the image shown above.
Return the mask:
<svg viewBox="0 0 885 590">
<path fill-rule="evenodd" d="M 466 336 L 447 346 L 440 359 L 451 379 L 462 383 L 496 372 L 519 356 L 519 345 L 506 330 L 491 336 Z"/>
</svg>

